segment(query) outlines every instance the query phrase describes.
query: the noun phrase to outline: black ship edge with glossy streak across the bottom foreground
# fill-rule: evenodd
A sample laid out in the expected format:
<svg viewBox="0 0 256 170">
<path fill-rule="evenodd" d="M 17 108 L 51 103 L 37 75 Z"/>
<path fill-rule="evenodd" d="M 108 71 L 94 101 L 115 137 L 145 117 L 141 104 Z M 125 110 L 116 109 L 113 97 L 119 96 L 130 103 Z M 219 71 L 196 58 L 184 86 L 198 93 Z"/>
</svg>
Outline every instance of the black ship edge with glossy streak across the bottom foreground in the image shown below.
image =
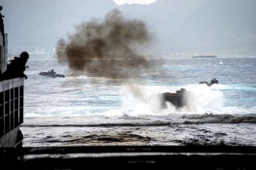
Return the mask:
<svg viewBox="0 0 256 170">
<path fill-rule="evenodd" d="M 6 169 L 255 169 L 249 146 L 83 146 L 0 148 Z M 4 169 L 4 168 L 3 168 Z"/>
</svg>

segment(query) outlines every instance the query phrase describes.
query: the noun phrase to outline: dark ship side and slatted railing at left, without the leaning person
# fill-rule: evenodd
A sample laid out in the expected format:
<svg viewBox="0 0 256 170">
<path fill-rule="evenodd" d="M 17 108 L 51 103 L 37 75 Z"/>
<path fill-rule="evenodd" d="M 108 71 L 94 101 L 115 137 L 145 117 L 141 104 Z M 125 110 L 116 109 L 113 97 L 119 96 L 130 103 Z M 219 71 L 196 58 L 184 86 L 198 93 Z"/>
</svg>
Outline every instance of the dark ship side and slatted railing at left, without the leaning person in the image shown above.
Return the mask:
<svg viewBox="0 0 256 170">
<path fill-rule="evenodd" d="M 0 6 L 0 11 L 2 6 Z M 7 33 L 0 13 L 0 70 L 7 66 Z M 0 80 L 0 147 L 22 146 L 23 135 L 20 124 L 23 122 L 23 86 L 24 78 Z"/>
</svg>

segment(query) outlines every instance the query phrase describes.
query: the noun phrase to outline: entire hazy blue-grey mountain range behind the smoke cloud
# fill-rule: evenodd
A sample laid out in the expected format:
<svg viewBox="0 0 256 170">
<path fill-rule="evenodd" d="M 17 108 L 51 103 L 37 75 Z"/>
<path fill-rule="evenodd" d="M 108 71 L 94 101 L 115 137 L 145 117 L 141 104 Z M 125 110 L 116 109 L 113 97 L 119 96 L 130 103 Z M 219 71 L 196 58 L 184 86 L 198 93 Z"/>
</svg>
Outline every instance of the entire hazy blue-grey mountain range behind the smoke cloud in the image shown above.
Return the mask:
<svg viewBox="0 0 256 170">
<path fill-rule="evenodd" d="M 74 26 L 119 8 L 152 32 L 145 53 L 255 54 L 255 0 L 162 0 L 118 6 L 111 0 L 1 1 L 9 51 L 18 46 L 53 49 Z"/>
</svg>

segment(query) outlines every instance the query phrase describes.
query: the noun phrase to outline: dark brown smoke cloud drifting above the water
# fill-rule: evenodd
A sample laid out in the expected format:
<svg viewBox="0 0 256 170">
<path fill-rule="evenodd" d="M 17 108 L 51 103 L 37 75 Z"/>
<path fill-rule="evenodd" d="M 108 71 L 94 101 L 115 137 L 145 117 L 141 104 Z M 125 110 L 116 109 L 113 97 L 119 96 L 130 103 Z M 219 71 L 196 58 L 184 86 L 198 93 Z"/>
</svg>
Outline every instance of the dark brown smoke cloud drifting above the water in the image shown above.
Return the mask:
<svg viewBox="0 0 256 170">
<path fill-rule="evenodd" d="M 125 78 L 149 67 L 145 57 L 132 48 L 149 40 L 142 21 L 126 19 L 119 10 L 112 10 L 102 22 L 91 20 L 78 25 L 67 42 L 59 40 L 57 58 L 68 61 L 74 71 L 86 71 L 88 76 Z"/>
</svg>

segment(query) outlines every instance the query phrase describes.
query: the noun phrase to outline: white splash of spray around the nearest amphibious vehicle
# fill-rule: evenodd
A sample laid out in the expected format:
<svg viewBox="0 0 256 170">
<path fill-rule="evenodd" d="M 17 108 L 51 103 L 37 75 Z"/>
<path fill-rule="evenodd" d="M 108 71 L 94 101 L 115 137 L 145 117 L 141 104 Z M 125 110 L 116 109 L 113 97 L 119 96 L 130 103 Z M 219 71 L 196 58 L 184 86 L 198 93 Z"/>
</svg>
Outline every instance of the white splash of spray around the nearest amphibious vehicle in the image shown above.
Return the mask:
<svg viewBox="0 0 256 170">
<path fill-rule="evenodd" d="M 175 92 L 181 87 L 161 87 L 162 92 Z M 205 113 L 212 109 L 218 111 L 223 108 L 223 94 L 219 90 L 211 90 L 207 86 L 190 86 L 188 90 L 188 105 L 187 107 L 176 109 L 174 105 L 167 103 L 166 109 L 161 106 L 158 94 L 160 92 L 151 91 L 146 87 L 136 85 L 133 90 L 125 89 L 123 91 L 123 108 L 131 109 L 137 114 L 172 114 L 172 113 Z"/>
</svg>

